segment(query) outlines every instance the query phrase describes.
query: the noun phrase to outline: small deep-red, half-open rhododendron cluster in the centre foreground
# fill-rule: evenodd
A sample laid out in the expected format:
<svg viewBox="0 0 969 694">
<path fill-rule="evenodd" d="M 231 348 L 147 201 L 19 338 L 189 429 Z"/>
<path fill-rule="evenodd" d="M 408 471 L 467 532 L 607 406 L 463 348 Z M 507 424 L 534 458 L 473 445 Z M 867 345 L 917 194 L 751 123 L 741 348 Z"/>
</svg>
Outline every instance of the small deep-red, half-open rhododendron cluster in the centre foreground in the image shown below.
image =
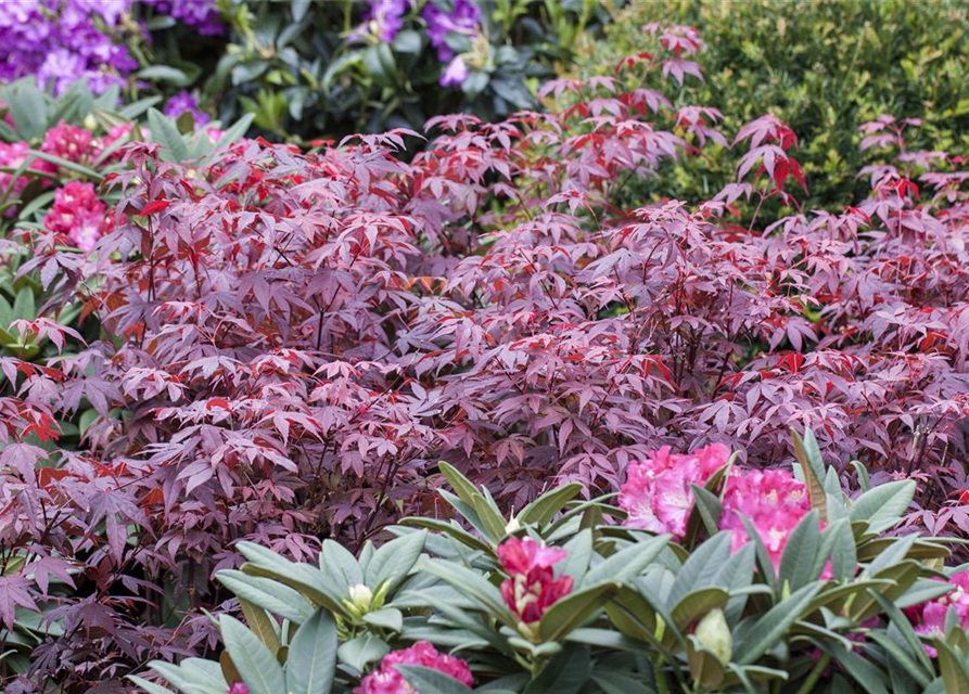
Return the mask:
<svg viewBox="0 0 969 694">
<path fill-rule="evenodd" d="M 565 550 L 528 538 L 511 538 L 498 547 L 501 568 L 509 576 L 501 583 L 501 597 L 526 625 L 541 619 L 546 609 L 572 592 L 572 577 L 556 578 L 552 570 L 565 556 Z"/>
</svg>

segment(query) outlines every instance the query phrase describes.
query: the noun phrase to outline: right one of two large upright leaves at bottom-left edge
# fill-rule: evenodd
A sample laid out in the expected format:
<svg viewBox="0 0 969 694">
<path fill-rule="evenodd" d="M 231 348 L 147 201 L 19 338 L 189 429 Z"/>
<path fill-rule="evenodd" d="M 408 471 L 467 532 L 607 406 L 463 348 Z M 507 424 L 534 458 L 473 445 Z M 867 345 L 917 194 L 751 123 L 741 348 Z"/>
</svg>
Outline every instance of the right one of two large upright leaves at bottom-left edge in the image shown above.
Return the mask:
<svg viewBox="0 0 969 694">
<path fill-rule="evenodd" d="M 336 622 L 326 609 L 316 611 L 290 643 L 286 694 L 330 694 L 336 671 Z"/>
</svg>

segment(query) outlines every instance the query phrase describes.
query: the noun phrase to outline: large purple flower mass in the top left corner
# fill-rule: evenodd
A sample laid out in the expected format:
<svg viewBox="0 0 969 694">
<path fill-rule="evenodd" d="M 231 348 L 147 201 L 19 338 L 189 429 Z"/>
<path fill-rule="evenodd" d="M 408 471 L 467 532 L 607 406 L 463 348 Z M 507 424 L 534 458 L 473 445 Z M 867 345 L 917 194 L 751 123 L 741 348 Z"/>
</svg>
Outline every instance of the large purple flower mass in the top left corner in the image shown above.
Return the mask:
<svg viewBox="0 0 969 694">
<path fill-rule="evenodd" d="M 95 93 L 138 64 L 120 43 L 102 33 L 113 30 L 130 0 L 17 0 L 0 3 L 0 80 L 37 76 L 59 94 L 78 79 Z"/>
</svg>

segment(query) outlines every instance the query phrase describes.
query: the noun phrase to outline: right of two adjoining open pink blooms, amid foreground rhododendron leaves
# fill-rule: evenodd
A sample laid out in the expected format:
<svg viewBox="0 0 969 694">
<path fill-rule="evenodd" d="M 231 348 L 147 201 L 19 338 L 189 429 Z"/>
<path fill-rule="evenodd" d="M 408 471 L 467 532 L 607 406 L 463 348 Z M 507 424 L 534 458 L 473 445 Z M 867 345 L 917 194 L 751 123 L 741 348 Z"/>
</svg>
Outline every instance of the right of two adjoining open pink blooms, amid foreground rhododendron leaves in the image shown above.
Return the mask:
<svg viewBox="0 0 969 694">
<path fill-rule="evenodd" d="M 721 529 L 732 531 L 731 550 L 736 552 L 750 540 L 740 519 L 743 514 L 778 566 L 788 537 L 808 511 L 807 488 L 788 471 L 735 470 L 727 480 Z"/>
</svg>

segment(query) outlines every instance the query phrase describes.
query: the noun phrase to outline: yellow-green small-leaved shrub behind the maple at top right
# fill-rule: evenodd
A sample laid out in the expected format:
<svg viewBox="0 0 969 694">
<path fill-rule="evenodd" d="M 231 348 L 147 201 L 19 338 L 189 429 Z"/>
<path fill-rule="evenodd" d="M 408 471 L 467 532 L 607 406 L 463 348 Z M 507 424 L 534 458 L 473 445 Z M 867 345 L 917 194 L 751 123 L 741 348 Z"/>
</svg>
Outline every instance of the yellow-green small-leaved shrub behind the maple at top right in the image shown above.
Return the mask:
<svg viewBox="0 0 969 694">
<path fill-rule="evenodd" d="M 916 149 L 956 152 L 969 145 L 965 2 L 913 5 L 893 0 L 656 0 L 615 11 L 605 36 L 577 50 L 581 76 L 611 74 L 630 53 L 651 50 L 655 23 L 696 27 L 704 46 L 694 59 L 706 79 L 688 82 L 684 103 L 719 110 L 736 131 L 764 113 L 801 140 L 811 196 L 806 209 L 840 211 L 865 194 L 855 174 L 869 160 L 858 127 L 882 114 L 918 118 Z M 704 200 L 732 174 L 731 157 L 681 163 L 645 187 L 658 195 Z"/>
</svg>

